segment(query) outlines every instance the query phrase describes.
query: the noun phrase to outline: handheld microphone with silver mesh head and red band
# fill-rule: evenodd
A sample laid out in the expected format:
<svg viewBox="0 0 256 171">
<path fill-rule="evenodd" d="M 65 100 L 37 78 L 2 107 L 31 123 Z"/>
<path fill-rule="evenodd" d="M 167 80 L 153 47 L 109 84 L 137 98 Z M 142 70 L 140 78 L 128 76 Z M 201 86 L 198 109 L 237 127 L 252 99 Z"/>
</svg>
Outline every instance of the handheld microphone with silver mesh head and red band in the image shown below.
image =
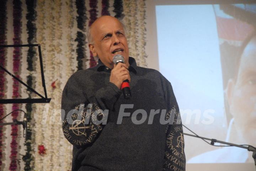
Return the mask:
<svg viewBox="0 0 256 171">
<path fill-rule="evenodd" d="M 113 57 L 113 63 L 117 64 L 118 62 L 124 63 L 124 57 L 122 55 L 117 54 Z M 125 99 L 129 99 L 132 96 L 130 92 L 129 80 L 123 81 L 121 85 L 121 90 L 123 91 L 123 95 Z"/>
</svg>

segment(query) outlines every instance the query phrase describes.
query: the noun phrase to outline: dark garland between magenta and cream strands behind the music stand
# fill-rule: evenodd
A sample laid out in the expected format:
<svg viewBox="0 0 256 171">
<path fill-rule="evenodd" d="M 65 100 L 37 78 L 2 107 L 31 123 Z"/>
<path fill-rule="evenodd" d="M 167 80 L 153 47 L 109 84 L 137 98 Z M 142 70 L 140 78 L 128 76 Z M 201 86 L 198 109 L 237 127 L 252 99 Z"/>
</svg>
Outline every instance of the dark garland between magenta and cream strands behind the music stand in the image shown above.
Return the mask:
<svg viewBox="0 0 256 171">
<path fill-rule="evenodd" d="M 36 0 L 33 1 L 26 1 L 27 5 L 27 33 L 28 33 L 28 44 L 32 44 L 32 41 L 34 40 L 34 36 L 36 34 L 36 26 L 34 24 L 34 21 L 36 19 L 35 17 L 35 11 L 34 7 L 36 5 Z M 28 52 L 27 52 L 27 70 L 29 72 L 27 76 L 27 85 L 32 87 L 33 85 L 33 77 L 32 77 L 32 72 L 34 71 L 33 67 L 33 59 L 34 56 L 36 55 L 36 51 L 34 47 L 29 47 Z M 32 92 L 27 89 L 28 92 L 28 97 L 31 98 Z M 26 146 L 26 154 L 22 157 L 22 160 L 25 163 L 24 170 L 32 170 L 31 167 L 31 162 L 33 161 L 33 156 L 31 154 L 32 152 L 32 146 L 31 146 L 31 140 L 32 140 L 32 104 L 26 104 L 26 110 L 27 110 L 27 135 L 25 139 L 25 146 Z"/>
</svg>

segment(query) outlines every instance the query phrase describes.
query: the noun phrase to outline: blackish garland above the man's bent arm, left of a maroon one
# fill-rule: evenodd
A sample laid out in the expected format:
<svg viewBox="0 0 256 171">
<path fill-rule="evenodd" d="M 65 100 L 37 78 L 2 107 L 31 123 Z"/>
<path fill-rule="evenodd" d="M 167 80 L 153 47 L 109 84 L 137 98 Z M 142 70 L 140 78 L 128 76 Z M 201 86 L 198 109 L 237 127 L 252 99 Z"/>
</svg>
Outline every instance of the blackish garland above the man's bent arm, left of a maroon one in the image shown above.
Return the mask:
<svg viewBox="0 0 256 171">
<path fill-rule="evenodd" d="M 85 24 L 85 20 L 86 15 L 85 15 L 85 1 L 81 1 L 81 0 L 76 0 L 76 12 L 78 13 L 78 16 L 76 17 L 76 21 L 78 23 L 78 28 L 81 31 L 78 31 L 76 33 L 76 39 L 75 41 L 78 42 L 78 45 L 76 46 L 76 53 L 77 53 L 77 58 L 76 60 L 78 61 L 78 70 L 83 69 L 83 61 L 82 59 L 85 57 L 85 48 L 84 48 L 84 42 L 85 42 L 85 34 L 82 33 L 82 31 L 84 31 L 84 24 Z"/>
</svg>

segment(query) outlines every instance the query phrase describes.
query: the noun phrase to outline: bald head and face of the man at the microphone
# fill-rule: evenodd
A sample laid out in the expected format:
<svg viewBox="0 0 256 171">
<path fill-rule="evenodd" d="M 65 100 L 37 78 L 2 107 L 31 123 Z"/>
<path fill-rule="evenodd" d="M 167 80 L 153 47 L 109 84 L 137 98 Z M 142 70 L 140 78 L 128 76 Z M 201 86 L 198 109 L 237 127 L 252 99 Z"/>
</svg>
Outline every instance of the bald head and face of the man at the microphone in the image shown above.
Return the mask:
<svg viewBox="0 0 256 171">
<path fill-rule="evenodd" d="M 89 45 L 94 57 L 113 68 L 113 56 L 120 54 L 124 63 L 129 66 L 129 49 L 122 24 L 114 17 L 103 16 L 91 25 L 93 43 Z"/>
</svg>

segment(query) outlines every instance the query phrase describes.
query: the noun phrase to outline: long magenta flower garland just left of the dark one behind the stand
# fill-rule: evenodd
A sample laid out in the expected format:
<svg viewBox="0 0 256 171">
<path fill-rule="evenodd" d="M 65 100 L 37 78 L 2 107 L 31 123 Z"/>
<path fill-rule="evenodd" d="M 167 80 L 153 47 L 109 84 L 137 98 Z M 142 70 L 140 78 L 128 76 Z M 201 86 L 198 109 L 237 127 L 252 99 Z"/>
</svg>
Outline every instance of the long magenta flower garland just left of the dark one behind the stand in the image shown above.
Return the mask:
<svg viewBox="0 0 256 171">
<path fill-rule="evenodd" d="M 13 27 L 14 27 L 14 44 L 18 45 L 21 43 L 21 1 L 16 0 L 13 1 Z M 20 48 L 14 47 L 14 55 L 13 55 L 13 72 L 14 75 L 19 78 L 18 72 L 20 69 Z M 18 98 L 20 96 L 18 90 L 19 90 L 19 83 L 17 80 L 13 79 L 14 83 L 12 85 L 13 91 L 12 91 L 12 98 Z M 19 108 L 18 104 L 12 105 L 12 110 L 16 110 Z M 17 119 L 18 112 L 12 113 L 12 119 Z M 18 136 L 18 125 L 12 125 L 11 126 L 11 163 L 10 163 L 10 170 L 16 170 L 17 169 L 17 136 Z"/>
</svg>

